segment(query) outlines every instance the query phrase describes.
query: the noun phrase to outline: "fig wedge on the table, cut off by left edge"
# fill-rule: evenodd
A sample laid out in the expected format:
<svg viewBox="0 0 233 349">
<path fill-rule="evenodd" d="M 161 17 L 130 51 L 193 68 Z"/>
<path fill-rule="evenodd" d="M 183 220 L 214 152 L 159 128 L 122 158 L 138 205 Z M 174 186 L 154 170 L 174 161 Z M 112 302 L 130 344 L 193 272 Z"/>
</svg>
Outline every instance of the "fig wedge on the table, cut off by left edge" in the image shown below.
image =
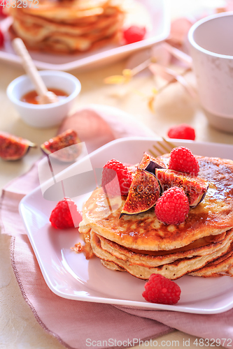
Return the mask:
<svg viewBox="0 0 233 349">
<path fill-rule="evenodd" d="M 24 138 L 0 131 L 0 157 L 3 160 L 19 160 L 27 154 L 30 147 L 36 148 L 36 144 Z"/>
</svg>

